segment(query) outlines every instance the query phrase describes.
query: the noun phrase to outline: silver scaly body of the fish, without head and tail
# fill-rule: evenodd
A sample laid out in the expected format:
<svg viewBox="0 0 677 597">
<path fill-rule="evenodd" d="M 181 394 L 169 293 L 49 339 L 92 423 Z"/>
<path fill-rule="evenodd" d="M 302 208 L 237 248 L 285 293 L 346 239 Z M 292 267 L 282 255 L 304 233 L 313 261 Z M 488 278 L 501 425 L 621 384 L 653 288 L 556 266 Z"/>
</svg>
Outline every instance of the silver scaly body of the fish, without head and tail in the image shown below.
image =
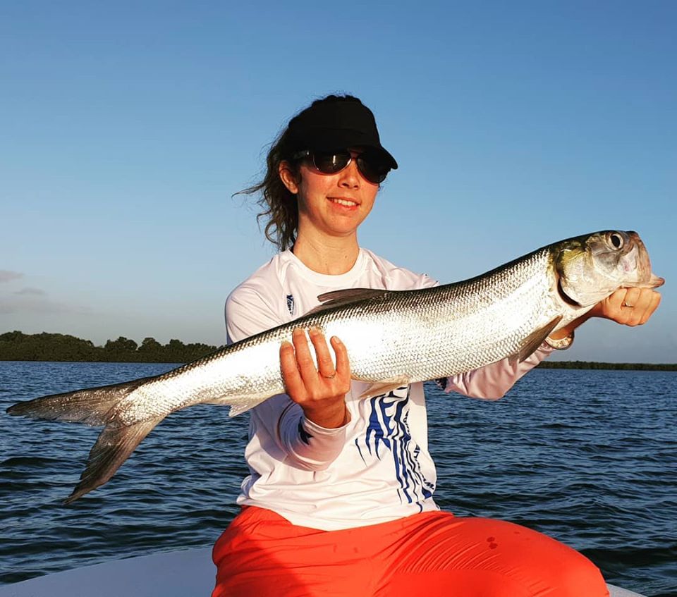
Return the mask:
<svg viewBox="0 0 677 597">
<path fill-rule="evenodd" d="M 296 327 L 341 338 L 358 381 L 425 381 L 477 369 L 518 353 L 530 333 L 562 314 L 553 286 L 546 247 L 465 282 L 329 307 L 159 376 L 119 403 L 118 417 L 130 424 L 200 402 L 238 410 L 283 393 L 279 347 Z"/>
</svg>

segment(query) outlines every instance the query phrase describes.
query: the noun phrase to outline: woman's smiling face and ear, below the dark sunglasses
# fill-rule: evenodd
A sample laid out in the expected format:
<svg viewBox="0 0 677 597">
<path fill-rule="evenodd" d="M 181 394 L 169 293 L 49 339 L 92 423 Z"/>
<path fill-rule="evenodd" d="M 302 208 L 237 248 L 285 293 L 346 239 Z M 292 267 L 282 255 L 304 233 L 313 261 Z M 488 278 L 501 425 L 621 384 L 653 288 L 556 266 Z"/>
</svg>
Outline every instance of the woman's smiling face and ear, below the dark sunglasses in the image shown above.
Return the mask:
<svg viewBox="0 0 677 597">
<path fill-rule="evenodd" d="M 353 152 L 353 158 L 358 152 Z M 362 177 L 355 159 L 336 174 L 323 174 L 306 161 L 298 177 L 281 166 L 280 176 L 298 200 L 298 235 L 355 235 L 374 207 L 379 185 Z"/>
</svg>

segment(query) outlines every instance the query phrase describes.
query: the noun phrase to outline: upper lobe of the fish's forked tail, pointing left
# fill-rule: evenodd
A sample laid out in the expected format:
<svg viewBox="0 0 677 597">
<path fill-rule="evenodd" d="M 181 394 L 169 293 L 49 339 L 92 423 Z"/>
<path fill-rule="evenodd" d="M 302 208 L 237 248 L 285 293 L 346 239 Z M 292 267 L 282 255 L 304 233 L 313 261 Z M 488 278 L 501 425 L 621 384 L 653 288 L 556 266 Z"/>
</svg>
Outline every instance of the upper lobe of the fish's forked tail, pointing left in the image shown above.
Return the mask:
<svg viewBox="0 0 677 597">
<path fill-rule="evenodd" d="M 111 386 L 86 388 L 25 400 L 9 407 L 7 414 L 48 421 L 106 425 L 110 421 L 111 408 L 150 379 L 152 378 L 144 377 Z"/>
</svg>

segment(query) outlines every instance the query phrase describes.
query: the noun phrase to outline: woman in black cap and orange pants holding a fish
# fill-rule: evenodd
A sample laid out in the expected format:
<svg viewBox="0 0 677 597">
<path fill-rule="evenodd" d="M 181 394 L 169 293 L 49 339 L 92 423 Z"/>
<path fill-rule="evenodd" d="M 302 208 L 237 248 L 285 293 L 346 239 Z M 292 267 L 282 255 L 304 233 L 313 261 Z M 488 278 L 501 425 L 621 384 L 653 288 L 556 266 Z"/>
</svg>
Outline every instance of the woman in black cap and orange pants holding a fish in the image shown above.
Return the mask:
<svg viewBox="0 0 677 597">
<path fill-rule="evenodd" d="M 331 290 L 436 284 L 358 244 L 379 184 L 397 168 L 359 99 L 315 101 L 273 144 L 267 167 L 247 192 L 262 192 L 266 235 L 281 252 L 228 297 L 230 342 L 292 321 Z M 642 324 L 658 302 L 652 290 L 623 290 L 590 315 Z M 444 388 L 500 398 L 554 347 L 568 347 L 580 323 L 521 364 L 506 359 Z M 440 512 L 422 384 L 358 400 L 365 386 L 350 381 L 341 340 L 330 339 L 334 365 L 322 332 L 308 336 L 317 367 L 296 330 L 280 348 L 287 393 L 252 410 L 243 510 L 214 546 L 213 597 L 607 594 L 597 568 L 554 539 Z"/>
</svg>

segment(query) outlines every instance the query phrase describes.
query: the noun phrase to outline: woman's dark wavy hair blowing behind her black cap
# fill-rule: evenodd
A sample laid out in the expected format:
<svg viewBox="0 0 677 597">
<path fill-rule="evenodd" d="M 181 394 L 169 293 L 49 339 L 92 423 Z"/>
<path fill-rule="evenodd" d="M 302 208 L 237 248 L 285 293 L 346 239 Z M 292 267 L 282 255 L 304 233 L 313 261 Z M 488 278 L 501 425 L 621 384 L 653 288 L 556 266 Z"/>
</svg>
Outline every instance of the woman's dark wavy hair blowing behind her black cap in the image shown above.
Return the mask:
<svg viewBox="0 0 677 597">
<path fill-rule="evenodd" d="M 360 99 L 352 95 L 327 95 L 307 106 L 300 111 L 294 118 L 298 118 L 307 110 L 312 109 L 318 104 L 337 101 L 356 101 L 362 104 Z M 293 118 L 291 119 L 293 120 Z M 291 123 L 291 121 L 290 121 Z M 298 159 L 293 159 L 293 154 L 299 149 L 295 144 L 292 135 L 289 132 L 289 123 L 280 135 L 272 142 L 268 155 L 266 156 L 266 173 L 264 178 L 257 184 L 252 185 L 236 195 L 243 193 L 245 195 L 254 195 L 261 193 L 257 204 L 262 208 L 256 219 L 260 223 L 266 222 L 264 229 L 266 238 L 277 245 L 279 250 L 283 251 L 293 247 L 298 230 L 298 204 L 296 195 L 287 189 L 279 176 L 279 167 L 283 161 L 288 162 L 292 173 L 298 177 Z"/>
</svg>

